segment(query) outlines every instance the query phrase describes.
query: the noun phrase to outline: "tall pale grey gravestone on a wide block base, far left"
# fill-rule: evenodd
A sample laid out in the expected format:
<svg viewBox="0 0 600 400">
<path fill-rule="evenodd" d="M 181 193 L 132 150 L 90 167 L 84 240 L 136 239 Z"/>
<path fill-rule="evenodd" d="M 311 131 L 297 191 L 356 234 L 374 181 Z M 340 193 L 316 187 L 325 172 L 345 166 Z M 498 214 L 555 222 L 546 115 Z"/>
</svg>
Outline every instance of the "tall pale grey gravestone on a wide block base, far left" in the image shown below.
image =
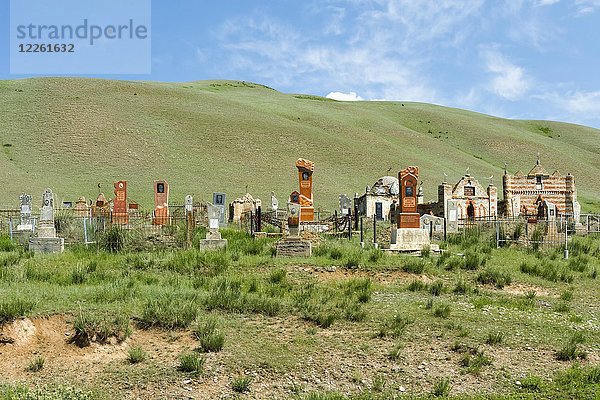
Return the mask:
<svg viewBox="0 0 600 400">
<path fill-rule="evenodd" d="M 37 237 L 29 240 L 29 250 L 34 253 L 62 253 L 65 250 L 65 240 L 56 236 L 54 194 L 50 189 L 46 189 L 42 195 Z"/>
</svg>

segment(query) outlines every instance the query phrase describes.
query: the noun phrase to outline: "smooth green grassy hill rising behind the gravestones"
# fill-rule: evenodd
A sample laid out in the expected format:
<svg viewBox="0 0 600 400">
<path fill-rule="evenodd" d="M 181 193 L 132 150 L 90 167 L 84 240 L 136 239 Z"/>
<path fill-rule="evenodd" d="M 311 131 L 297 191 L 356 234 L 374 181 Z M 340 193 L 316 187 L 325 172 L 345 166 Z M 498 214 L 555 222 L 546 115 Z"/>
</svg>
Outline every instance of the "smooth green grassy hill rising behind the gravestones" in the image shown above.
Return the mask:
<svg viewBox="0 0 600 400">
<path fill-rule="evenodd" d="M 129 182 L 130 199 L 152 207 L 152 181 L 186 194 L 228 200 L 248 191 L 269 203 L 297 188 L 294 162 L 315 167 L 317 207 L 339 193 L 362 193 L 383 175 L 418 165 L 426 200 L 449 175 L 470 167 L 500 185 L 504 163 L 525 172 L 540 153 L 550 172 L 575 175 L 585 210 L 600 210 L 600 130 L 516 121 L 421 103 L 336 102 L 283 94 L 235 81 L 124 82 L 44 78 L 0 81 L 0 208 L 44 187 L 58 200 L 112 194 Z M 391 168 L 391 172 L 387 172 Z"/>
</svg>

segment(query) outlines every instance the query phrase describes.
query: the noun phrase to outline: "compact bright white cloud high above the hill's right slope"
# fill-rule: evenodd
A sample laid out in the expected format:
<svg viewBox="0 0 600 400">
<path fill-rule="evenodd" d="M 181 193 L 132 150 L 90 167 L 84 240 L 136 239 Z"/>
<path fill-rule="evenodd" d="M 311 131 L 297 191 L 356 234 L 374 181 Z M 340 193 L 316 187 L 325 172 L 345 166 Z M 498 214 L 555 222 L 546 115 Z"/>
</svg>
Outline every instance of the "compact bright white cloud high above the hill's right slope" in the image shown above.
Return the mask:
<svg viewBox="0 0 600 400">
<path fill-rule="evenodd" d="M 512 64 L 498 50 L 485 50 L 483 58 L 487 70 L 495 74 L 489 89 L 496 95 L 515 101 L 529 90 L 530 83 L 525 76 L 525 70 Z"/>
</svg>

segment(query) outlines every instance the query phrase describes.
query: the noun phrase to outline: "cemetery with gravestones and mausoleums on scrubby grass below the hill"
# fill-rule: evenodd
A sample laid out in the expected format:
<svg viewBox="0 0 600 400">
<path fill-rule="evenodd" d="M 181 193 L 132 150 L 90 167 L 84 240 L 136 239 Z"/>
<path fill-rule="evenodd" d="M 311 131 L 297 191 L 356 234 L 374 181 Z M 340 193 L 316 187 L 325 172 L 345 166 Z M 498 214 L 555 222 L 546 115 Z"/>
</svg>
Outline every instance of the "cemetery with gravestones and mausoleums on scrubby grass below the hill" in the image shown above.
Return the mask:
<svg viewBox="0 0 600 400">
<path fill-rule="evenodd" d="M 569 360 L 578 361 L 568 374 L 597 372 L 597 317 L 588 312 L 597 306 L 600 217 L 581 214 L 572 176 L 548 175 L 538 160 L 527 176 L 507 172 L 498 199 L 492 178 L 484 188 L 467 170 L 454 186 L 445 176 L 438 201 L 425 202 L 422 171 L 408 166 L 324 210 L 313 186 L 318 164 L 300 158 L 292 166 L 298 186 L 290 182 L 284 205 L 272 192 L 264 210 L 250 193 L 230 203 L 227 193 L 209 202 L 193 193 L 178 203 L 164 179 L 150 186 L 148 211 L 128 197 L 139 182 L 125 180 L 110 196 L 62 205 L 51 189 L 41 203 L 22 194 L 18 208 L 0 212 L 0 281 L 8 285 L 0 369 L 22 376 L 28 361 L 17 354 L 38 338 L 45 369 L 101 391 L 113 389 L 98 379 L 121 379 L 133 368 L 114 357 L 143 349 L 171 360 L 175 368 L 139 367 L 159 368 L 173 382 L 166 387 L 127 377 L 116 388 L 145 385 L 151 396 L 215 394 L 240 377 L 257 398 L 327 391 L 388 398 L 436 393 L 450 381 L 457 394 L 491 383 L 494 393 L 518 395 L 529 393 L 528 379 L 541 382 L 536 393 L 568 393 L 556 371 Z M 566 185 L 564 194 L 553 179 Z M 39 335 L 48 323 L 66 336 L 47 342 Z M 22 329 L 32 333 L 23 339 Z M 340 329 L 338 341 L 326 333 Z M 254 345 L 257 334 L 270 344 Z M 149 347 L 149 338 L 160 345 Z M 352 347 L 363 350 L 347 353 Z M 98 351 L 116 353 L 92 358 Z M 83 354 L 78 366 L 74 352 Z M 227 354 L 243 369 L 221 359 Z M 185 357 L 206 366 L 188 370 Z M 372 368 L 361 368 L 365 362 Z M 538 362 L 550 367 L 532 367 Z M 317 375 L 307 376 L 304 363 Z M 81 368 L 93 373 L 81 379 Z M 491 378 L 500 370 L 508 382 Z"/>
</svg>

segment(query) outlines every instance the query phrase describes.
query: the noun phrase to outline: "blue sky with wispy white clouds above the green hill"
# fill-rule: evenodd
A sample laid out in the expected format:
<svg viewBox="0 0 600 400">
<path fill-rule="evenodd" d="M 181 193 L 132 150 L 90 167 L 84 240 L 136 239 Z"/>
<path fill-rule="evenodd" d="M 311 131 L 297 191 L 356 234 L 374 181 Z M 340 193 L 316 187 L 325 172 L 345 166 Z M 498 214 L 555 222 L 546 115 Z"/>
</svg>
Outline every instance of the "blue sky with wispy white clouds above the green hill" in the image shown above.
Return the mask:
<svg viewBox="0 0 600 400">
<path fill-rule="evenodd" d="M 599 43 L 600 0 L 154 0 L 152 73 L 99 76 L 247 80 L 600 127 Z M 21 77 L 3 51 L 0 78 Z"/>
</svg>

